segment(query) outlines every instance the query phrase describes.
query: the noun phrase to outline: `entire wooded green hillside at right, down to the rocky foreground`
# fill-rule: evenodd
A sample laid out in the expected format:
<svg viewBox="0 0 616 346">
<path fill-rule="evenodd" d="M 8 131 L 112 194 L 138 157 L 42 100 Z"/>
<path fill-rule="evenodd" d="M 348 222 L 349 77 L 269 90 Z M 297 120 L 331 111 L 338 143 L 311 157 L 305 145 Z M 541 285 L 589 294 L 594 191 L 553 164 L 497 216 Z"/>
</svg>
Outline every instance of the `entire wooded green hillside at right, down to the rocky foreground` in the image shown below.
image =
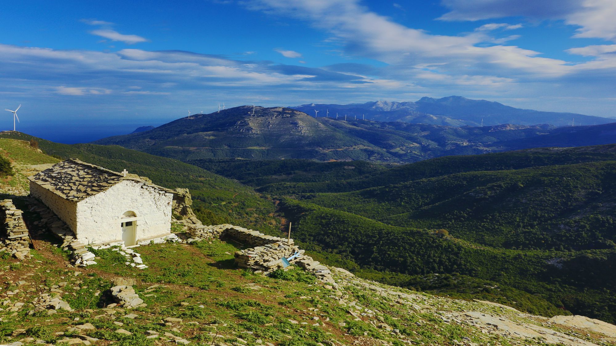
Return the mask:
<svg viewBox="0 0 616 346">
<path fill-rule="evenodd" d="M 296 238 L 369 278 L 467 297 L 489 280 L 503 286 L 499 299 L 516 300 L 511 288 L 614 321 L 616 282 L 602 273 L 616 260 L 615 153 L 602 145 L 450 156 L 260 190 L 283 199 Z M 328 190 L 347 192 L 312 192 Z M 470 283 L 435 289 L 426 275 L 439 273 Z"/>
</svg>

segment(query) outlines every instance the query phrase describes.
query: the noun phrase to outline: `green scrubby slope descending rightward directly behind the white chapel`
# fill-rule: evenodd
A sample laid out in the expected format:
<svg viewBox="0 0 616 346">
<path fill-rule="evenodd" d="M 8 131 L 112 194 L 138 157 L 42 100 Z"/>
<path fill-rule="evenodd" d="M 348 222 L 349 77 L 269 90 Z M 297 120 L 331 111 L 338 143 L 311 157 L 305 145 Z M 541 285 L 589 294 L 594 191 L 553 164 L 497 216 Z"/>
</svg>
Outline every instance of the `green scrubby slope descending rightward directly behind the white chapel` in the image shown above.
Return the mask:
<svg viewBox="0 0 616 346">
<path fill-rule="evenodd" d="M 33 138 L 20 132 L 3 132 L 0 137 Z M 189 188 L 195 200 L 195 212 L 205 223 L 233 222 L 269 232 L 274 230 L 270 225 L 278 223 L 274 217 L 268 216 L 274 212 L 274 204 L 270 201 L 260 198 L 250 187 L 205 169 L 118 146 L 67 145 L 37 140 L 47 155 L 63 159 L 79 158 L 113 171 L 127 169 L 167 188 Z"/>
</svg>

